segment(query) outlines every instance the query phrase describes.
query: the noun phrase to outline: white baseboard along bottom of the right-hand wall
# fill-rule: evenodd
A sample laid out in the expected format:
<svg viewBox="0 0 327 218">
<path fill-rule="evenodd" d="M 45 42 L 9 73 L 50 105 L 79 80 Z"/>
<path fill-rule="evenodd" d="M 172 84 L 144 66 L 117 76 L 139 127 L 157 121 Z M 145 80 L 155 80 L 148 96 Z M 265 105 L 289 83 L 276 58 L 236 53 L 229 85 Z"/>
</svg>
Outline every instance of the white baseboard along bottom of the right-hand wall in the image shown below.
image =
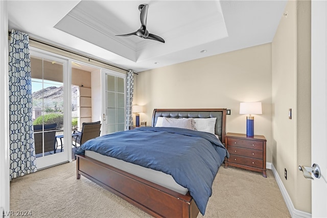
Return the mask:
<svg viewBox="0 0 327 218">
<path fill-rule="evenodd" d="M 279 175 L 277 174 L 277 171 L 276 171 L 274 165 L 272 163 L 270 163 L 270 162 L 267 162 L 266 167 L 267 167 L 267 169 L 271 169 L 272 173 L 274 174 L 274 177 L 276 179 L 276 182 L 278 184 L 279 189 L 282 192 L 282 196 L 284 198 L 284 201 L 286 203 L 288 211 L 291 214 L 291 217 L 311 218 L 312 217 L 311 213 L 304 212 L 304 211 L 301 211 L 301 210 L 297 210 L 297 209 L 294 208 L 292 200 L 291 200 L 290 196 L 287 193 L 287 190 L 286 190 L 286 188 L 285 188 L 285 186 L 284 186 L 284 184 L 283 184 L 283 182 L 281 180 L 281 177 L 279 177 Z"/>
</svg>

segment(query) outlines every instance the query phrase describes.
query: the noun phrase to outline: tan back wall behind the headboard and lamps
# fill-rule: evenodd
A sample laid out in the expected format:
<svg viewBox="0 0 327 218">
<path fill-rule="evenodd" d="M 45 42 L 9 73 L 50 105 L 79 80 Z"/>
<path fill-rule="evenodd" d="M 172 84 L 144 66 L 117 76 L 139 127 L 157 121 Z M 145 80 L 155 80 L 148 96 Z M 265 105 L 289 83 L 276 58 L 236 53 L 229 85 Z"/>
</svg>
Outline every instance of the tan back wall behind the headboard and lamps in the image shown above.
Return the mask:
<svg viewBox="0 0 327 218">
<path fill-rule="evenodd" d="M 262 102 L 254 134 L 267 138 L 267 161 L 272 162 L 270 43 L 143 71 L 135 87 L 134 104 L 144 105 L 140 120 L 148 125 L 154 108 L 227 108 L 226 131 L 246 133 L 240 102 Z"/>
</svg>

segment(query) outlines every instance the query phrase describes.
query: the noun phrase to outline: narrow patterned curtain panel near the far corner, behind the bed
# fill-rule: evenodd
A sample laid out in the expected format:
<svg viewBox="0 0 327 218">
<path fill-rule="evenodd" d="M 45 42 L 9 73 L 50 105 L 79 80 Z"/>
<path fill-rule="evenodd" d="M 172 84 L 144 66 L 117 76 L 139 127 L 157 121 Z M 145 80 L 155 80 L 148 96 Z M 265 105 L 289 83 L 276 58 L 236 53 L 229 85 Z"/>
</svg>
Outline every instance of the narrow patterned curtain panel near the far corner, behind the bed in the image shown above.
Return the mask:
<svg viewBox="0 0 327 218">
<path fill-rule="evenodd" d="M 127 72 L 127 96 L 126 96 L 126 129 L 133 126 L 132 117 L 132 103 L 133 103 L 133 90 L 134 90 L 134 75 L 133 70 Z"/>
</svg>

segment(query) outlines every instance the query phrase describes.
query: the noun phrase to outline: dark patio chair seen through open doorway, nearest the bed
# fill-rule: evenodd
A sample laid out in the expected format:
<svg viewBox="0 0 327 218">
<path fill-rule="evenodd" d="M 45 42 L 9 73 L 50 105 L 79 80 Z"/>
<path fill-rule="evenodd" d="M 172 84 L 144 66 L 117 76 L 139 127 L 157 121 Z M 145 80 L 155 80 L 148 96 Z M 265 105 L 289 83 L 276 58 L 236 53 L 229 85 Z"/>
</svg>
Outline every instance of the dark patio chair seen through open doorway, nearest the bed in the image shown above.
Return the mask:
<svg viewBox="0 0 327 218">
<path fill-rule="evenodd" d="M 100 129 L 101 129 L 100 121 L 92 122 L 92 123 L 83 123 L 81 132 L 76 130 L 73 132 L 72 135 L 73 146 L 77 147 L 77 144 L 80 144 L 81 146 L 85 141 L 100 136 L 100 132 L 101 132 Z"/>
</svg>

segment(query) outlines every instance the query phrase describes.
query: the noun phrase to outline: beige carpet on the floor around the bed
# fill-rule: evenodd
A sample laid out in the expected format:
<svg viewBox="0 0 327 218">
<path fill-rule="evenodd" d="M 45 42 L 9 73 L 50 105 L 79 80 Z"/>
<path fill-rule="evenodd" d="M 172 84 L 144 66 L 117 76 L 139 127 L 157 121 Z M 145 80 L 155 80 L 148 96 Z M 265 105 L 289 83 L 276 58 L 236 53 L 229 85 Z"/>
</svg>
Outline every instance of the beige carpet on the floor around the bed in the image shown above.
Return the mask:
<svg viewBox="0 0 327 218">
<path fill-rule="evenodd" d="M 267 176 L 222 165 L 198 217 L 291 217 L 270 170 Z M 10 210 L 32 217 L 150 217 L 83 176 L 77 180 L 75 161 L 14 179 Z"/>
</svg>

